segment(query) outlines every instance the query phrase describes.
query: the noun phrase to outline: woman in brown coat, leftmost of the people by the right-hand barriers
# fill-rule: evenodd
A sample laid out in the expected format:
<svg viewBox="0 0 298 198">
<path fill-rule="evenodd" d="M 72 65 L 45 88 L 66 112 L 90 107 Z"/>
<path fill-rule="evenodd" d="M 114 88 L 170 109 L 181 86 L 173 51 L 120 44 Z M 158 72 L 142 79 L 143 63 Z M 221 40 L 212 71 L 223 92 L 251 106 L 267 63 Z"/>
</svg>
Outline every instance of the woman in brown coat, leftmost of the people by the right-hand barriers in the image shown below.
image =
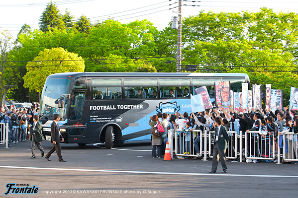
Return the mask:
<svg viewBox="0 0 298 198">
<path fill-rule="evenodd" d="M 149 125 L 152 128 L 152 131 L 155 131 L 155 126 L 158 124 L 158 117 L 157 115 L 150 116 Z M 156 147 L 157 147 L 157 156 L 158 158 L 161 158 L 161 144 L 162 139 L 161 136 L 155 135 L 155 132 L 152 132 L 151 134 L 151 145 L 152 145 L 152 157 L 156 158 Z"/>
</svg>

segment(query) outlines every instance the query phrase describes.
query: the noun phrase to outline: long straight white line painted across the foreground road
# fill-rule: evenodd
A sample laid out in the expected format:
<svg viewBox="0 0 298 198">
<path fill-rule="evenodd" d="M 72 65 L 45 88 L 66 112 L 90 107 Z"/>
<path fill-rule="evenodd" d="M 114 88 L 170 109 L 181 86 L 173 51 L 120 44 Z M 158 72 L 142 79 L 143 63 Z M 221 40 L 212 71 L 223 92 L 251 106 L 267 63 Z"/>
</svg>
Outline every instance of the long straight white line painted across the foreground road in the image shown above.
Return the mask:
<svg viewBox="0 0 298 198">
<path fill-rule="evenodd" d="M 42 168 L 22 166 L 0 166 L 0 168 L 36 169 L 36 170 L 59 170 L 59 171 L 87 171 L 105 173 L 135 173 L 135 174 L 156 174 L 156 175 L 195 175 L 195 176 L 233 176 L 233 177 L 268 177 L 268 178 L 298 178 L 298 175 L 240 175 L 240 174 L 208 174 L 208 173 L 171 173 L 171 172 L 150 172 L 150 171 L 116 171 L 97 169 L 71 169 L 71 168 Z"/>
</svg>

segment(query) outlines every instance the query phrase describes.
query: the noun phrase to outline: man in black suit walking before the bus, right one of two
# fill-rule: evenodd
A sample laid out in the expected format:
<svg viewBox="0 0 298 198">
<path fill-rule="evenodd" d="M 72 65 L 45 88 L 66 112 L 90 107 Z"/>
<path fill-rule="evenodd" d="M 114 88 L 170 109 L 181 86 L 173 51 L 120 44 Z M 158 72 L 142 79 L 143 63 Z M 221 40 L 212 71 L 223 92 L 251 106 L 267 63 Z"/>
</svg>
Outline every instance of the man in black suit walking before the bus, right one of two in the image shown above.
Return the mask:
<svg viewBox="0 0 298 198">
<path fill-rule="evenodd" d="M 60 133 L 59 126 L 58 126 L 58 121 L 60 119 L 59 114 L 55 114 L 53 116 L 53 119 L 54 119 L 54 121 L 51 125 L 51 142 L 53 142 L 54 146 L 48 152 L 48 154 L 46 154 L 45 158 L 48 161 L 51 161 L 49 158 L 50 158 L 51 154 L 56 151 L 56 153 L 59 157 L 59 162 L 66 162 L 65 160 L 62 159 L 62 155 L 61 155 L 60 138 L 61 138 L 62 142 L 64 141 L 64 138 L 63 138 L 62 134 Z"/>
</svg>

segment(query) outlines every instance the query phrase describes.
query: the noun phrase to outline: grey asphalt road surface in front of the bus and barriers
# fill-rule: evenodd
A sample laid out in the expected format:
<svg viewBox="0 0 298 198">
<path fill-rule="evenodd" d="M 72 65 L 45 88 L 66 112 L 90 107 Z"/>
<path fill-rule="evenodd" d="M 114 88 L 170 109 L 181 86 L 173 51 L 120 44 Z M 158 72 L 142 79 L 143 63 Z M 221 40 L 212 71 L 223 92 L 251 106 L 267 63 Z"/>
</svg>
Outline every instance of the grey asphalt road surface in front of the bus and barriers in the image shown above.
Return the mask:
<svg viewBox="0 0 298 198">
<path fill-rule="evenodd" d="M 0 145 L 0 197 L 285 198 L 298 193 L 296 164 L 227 161 L 227 174 L 220 162 L 217 173 L 209 174 L 211 160 L 153 159 L 150 142 L 144 141 L 114 149 L 61 144 L 65 163 L 58 162 L 56 153 L 47 161 L 38 149 L 36 158 L 30 159 L 30 145 Z M 47 152 L 52 144 L 44 141 L 42 146 Z M 5 196 L 6 185 L 14 183 L 35 186 L 38 193 Z"/>
</svg>

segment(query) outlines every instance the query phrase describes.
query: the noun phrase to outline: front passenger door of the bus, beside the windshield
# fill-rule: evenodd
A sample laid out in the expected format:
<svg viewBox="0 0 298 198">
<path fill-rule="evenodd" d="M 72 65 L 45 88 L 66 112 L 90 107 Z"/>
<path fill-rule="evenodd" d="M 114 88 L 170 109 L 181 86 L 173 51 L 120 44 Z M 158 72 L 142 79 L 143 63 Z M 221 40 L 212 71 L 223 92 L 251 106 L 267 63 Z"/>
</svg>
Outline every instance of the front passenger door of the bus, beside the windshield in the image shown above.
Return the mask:
<svg viewBox="0 0 298 198">
<path fill-rule="evenodd" d="M 87 143 L 88 130 L 87 120 L 83 117 L 84 104 L 86 101 L 85 91 L 74 91 L 71 95 L 69 111 L 69 142 Z M 85 138 L 84 138 L 85 137 Z"/>
</svg>

